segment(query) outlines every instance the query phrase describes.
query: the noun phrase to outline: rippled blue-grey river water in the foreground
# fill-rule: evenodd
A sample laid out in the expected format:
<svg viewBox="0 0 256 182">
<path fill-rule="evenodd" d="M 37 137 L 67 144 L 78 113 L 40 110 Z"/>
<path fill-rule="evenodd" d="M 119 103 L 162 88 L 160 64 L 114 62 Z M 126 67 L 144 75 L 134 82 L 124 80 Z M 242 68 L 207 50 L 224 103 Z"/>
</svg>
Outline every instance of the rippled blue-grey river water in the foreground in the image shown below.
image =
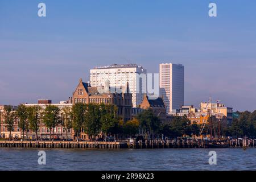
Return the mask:
<svg viewBox="0 0 256 182">
<path fill-rule="evenodd" d="M 209 151 L 217 165 L 209 165 Z M 0 148 L 0 170 L 256 170 L 256 148 L 165 148 L 139 150 Z"/>
</svg>

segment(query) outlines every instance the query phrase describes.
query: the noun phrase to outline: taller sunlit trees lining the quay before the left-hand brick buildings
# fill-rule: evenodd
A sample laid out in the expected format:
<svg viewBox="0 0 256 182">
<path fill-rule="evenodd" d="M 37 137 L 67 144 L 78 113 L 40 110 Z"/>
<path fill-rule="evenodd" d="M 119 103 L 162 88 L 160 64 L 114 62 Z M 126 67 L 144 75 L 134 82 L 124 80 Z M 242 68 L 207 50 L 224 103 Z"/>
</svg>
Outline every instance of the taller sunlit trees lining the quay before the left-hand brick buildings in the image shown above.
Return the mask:
<svg viewBox="0 0 256 182">
<path fill-rule="evenodd" d="M 13 109 L 13 106 L 5 106 L 3 113 L 0 113 L 0 121 L 1 117 L 5 119 L 4 124 L 10 132 L 10 140 L 15 122 L 22 130 L 23 140 L 25 139 L 24 136 L 28 139 L 30 130 L 35 133 L 36 139 L 38 139 L 40 123 L 43 123 L 49 129 L 50 138 L 52 138 L 53 129 L 59 124 L 64 127 L 66 138 L 68 138 L 68 130 L 73 129 L 77 140 L 81 139 L 82 132 L 88 134 L 90 138 L 95 138 L 101 132 L 105 136 L 108 133 L 126 136 L 138 133 L 140 126 L 138 119 L 134 118 L 123 122 L 122 118 L 118 117 L 117 110 L 117 106 L 110 104 L 76 104 L 72 107 L 64 107 L 62 110 L 54 105 L 47 105 L 45 109 L 38 105 L 19 105 L 16 110 Z M 144 122 L 143 126 L 145 128 L 147 122 Z"/>
</svg>

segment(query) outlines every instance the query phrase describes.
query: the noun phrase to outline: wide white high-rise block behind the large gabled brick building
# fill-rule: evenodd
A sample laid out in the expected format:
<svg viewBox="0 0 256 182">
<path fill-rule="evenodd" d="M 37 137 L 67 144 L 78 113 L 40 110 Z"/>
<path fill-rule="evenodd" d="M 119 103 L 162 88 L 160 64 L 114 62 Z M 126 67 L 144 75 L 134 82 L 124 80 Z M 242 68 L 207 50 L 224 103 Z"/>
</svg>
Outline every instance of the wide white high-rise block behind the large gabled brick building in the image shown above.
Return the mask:
<svg viewBox="0 0 256 182">
<path fill-rule="evenodd" d="M 141 104 L 143 94 L 146 93 L 146 69 L 137 64 L 112 64 L 90 69 L 90 85 L 101 86 L 106 81 L 109 81 L 109 86 L 117 87 L 128 82 L 130 93 L 133 94 L 133 107 Z"/>
</svg>

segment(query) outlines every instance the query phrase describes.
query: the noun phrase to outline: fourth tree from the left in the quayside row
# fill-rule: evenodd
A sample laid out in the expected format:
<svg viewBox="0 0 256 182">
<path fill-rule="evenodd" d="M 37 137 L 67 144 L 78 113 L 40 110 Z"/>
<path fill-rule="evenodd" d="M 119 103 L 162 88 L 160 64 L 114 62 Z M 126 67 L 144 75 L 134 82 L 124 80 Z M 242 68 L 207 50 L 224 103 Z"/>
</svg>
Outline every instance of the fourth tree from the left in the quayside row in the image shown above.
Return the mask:
<svg viewBox="0 0 256 182">
<path fill-rule="evenodd" d="M 43 122 L 46 124 L 48 129 L 50 130 L 50 140 L 52 140 L 52 129 L 56 127 L 59 122 L 59 107 L 54 105 L 47 105 L 46 109 L 43 112 Z M 53 130 L 54 134 L 54 130 Z"/>
</svg>

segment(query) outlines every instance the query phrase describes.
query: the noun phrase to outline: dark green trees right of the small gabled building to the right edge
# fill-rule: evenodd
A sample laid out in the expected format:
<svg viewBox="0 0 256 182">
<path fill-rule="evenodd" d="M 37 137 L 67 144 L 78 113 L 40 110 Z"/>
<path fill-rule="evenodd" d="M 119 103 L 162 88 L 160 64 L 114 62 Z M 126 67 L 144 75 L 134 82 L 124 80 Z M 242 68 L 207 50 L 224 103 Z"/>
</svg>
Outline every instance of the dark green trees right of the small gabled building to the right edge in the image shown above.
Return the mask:
<svg viewBox="0 0 256 182">
<path fill-rule="evenodd" d="M 166 137 L 176 138 L 181 136 L 198 136 L 201 130 L 201 135 L 210 134 L 210 122 L 212 123 L 212 136 L 213 137 L 233 137 L 242 138 L 256 137 L 256 110 L 250 111 L 237 111 L 234 113 L 233 122 L 228 123 L 226 117 L 218 119 L 214 116 L 208 118 L 207 124 L 202 127 L 196 123 L 191 123 L 189 119 L 184 117 L 174 117 L 171 123 L 160 126 L 159 134 L 164 134 Z M 219 129 L 220 127 L 220 129 Z"/>
</svg>

